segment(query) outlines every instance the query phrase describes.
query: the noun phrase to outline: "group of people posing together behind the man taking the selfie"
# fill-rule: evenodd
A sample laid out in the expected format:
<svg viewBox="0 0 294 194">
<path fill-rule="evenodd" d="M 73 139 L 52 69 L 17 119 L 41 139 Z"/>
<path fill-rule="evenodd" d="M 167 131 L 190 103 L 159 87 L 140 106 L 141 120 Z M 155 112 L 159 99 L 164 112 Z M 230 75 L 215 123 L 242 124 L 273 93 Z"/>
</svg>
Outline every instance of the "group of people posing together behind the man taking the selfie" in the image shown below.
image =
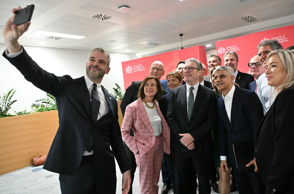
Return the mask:
<svg viewBox="0 0 294 194">
<path fill-rule="evenodd" d="M 199 194 L 211 193 L 211 187 L 222 194 L 237 189 L 240 194 L 291 193 L 294 161 L 287 158 L 293 152 L 289 142 L 294 133 L 282 121 L 289 119 L 294 87 L 294 52 L 290 49 L 283 50 L 275 40 L 263 41 L 258 45 L 258 55 L 248 63 L 250 74 L 238 71 L 238 55 L 233 51 L 224 54 L 224 66 L 219 56 L 210 54 L 207 76 L 205 65 L 190 58 L 167 73 L 161 85 L 164 65 L 154 61 L 150 75 L 134 81 L 121 102 L 121 132 L 129 160 L 133 161 L 132 181 L 136 165 L 139 169 L 141 193 L 158 193 L 158 159 L 162 159 L 162 194 L 171 188 L 173 193 L 196 193 L 197 179 Z M 266 80 L 266 84 L 260 80 Z M 163 96 L 158 98 L 161 91 Z M 276 105 L 282 103 L 281 99 L 289 101 L 289 107 Z M 155 111 L 148 114 L 151 109 Z M 158 126 L 153 128 L 156 118 L 161 118 L 161 135 Z M 170 141 L 163 129 L 165 121 Z M 160 158 L 152 150 L 157 149 L 158 137 L 165 145 L 158 152 Z M 238 150 L 233 147 L 243 140 L 251 140 L 253 147 L 248 150 L 252 158 L 244 164 L 245 170 L 238 168 Z M 281 165 L 283 162 L 287 165 Z M 287 170 L 286 176 L 279 170 Z"/>
</svg>

